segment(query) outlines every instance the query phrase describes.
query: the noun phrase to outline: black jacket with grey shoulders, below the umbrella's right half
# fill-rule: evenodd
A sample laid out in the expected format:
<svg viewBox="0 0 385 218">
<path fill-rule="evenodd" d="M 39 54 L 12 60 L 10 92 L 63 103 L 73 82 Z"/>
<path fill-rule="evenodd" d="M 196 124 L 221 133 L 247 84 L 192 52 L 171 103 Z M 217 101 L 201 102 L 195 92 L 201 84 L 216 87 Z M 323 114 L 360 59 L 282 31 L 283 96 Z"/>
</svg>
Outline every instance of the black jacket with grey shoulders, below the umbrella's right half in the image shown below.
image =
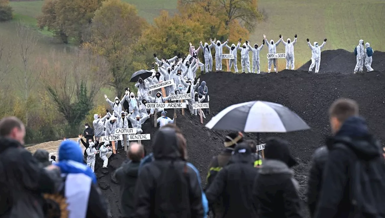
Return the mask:
<svg viewBox="0 0 385 218">
<path fill-rule="evenodd" d="M 254 182 L 254 195 L 261 218 L 301 218 L 298 182 L 282 161 L 265 159 Z"/>
</svg>

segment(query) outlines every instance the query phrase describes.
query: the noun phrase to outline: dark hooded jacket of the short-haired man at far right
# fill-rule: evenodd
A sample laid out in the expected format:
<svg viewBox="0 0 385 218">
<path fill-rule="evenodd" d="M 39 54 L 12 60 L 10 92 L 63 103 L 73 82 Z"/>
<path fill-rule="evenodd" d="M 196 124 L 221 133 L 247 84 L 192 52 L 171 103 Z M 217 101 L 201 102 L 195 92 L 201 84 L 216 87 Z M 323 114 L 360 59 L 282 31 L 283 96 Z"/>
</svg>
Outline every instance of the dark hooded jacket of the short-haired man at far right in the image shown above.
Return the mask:
<svg viewBox="0 0 385 218">
<path fill-rule="evenodd" d="M 383 172 L 381 145 L 369 134 L 365 120 L 360 117 L 348 118 L 326 144 L 329 154 L 323 172 L 322 187 L 325 188 L 321 189 L 314 217 L 362 217 L 355 214 L 356 208 L 350 201 L 350 173 L 354 171 L 353 166 L 358 159 L 373 161 L 371 167 L 376 166 L 378 172 Z"/>
</svg>

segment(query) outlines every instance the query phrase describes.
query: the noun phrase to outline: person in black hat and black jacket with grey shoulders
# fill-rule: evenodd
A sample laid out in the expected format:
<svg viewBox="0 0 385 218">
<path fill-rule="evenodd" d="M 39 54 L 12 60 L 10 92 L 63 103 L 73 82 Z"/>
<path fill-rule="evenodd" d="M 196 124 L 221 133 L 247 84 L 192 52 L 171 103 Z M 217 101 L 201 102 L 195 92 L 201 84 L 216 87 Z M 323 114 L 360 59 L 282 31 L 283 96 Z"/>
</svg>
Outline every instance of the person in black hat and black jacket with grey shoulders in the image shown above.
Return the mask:
<svg viewBox="0 0 385 218">
<path fill-rule="evenodd" d="M 254 182 L 259 217 L 301 218 L 299 184 L 290 169 L 297 162 L 290 154 L 289 143 L 270 138 L 266 142 L 264 155 L 265 159 Z"/>
</svg>

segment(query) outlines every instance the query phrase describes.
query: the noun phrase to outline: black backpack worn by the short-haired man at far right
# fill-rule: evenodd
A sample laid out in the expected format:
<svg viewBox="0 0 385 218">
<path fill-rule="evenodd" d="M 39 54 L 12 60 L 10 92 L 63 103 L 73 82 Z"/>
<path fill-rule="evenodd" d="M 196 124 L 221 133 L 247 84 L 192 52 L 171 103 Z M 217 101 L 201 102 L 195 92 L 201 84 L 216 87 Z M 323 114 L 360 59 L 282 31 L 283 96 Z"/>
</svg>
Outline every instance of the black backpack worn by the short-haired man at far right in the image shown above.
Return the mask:
<svg viewBox="0 0 385 218">
<path fill-rule="evenodd" d="M 348 145 L 338 143 L 336 147 L 352 153 Z M 355 217 L 385 217 L 385 163 L 382 156 L 365 161 L 356 158 L 350 173 L 350 201 Z"/>
</svg>

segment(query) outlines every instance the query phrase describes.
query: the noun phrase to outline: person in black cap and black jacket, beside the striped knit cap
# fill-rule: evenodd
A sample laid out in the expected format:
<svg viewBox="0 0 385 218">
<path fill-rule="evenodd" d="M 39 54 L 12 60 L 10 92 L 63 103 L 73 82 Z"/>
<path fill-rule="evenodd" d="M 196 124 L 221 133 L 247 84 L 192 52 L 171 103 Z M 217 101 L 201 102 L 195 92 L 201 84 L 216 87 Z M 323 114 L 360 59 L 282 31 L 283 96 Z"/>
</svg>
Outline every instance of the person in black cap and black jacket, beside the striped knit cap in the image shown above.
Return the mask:
<svg viewBox="0 0 385 218">
<path fill-rule="evenodd" d="M 254 156 L 246 143 L 237 145 L 229 164 L 218 172 L 206 190 L 209 204 L 223 197 L 223 218 L 255 218 L 257 208 L 253 201 L 253 184 L 258 175 L 254 167 Z"/>
</svg>

